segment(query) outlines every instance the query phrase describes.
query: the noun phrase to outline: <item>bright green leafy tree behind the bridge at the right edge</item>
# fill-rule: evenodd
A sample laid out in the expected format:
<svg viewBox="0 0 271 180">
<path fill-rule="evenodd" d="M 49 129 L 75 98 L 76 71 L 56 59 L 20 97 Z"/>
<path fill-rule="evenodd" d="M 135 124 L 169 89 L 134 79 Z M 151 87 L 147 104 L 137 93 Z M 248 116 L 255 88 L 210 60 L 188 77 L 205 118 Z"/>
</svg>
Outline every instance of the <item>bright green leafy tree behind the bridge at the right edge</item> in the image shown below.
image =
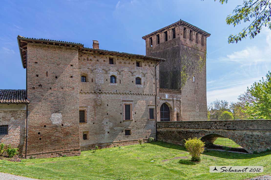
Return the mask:
<svg viewBox="0 0 271 180">
<path fill-rule="evenodd" d="M 246 94 L 244 112 L 254 119 L 271 119 L 271 73 L 268 71 L 266 80 L 253 83 Z"/>
</svg>

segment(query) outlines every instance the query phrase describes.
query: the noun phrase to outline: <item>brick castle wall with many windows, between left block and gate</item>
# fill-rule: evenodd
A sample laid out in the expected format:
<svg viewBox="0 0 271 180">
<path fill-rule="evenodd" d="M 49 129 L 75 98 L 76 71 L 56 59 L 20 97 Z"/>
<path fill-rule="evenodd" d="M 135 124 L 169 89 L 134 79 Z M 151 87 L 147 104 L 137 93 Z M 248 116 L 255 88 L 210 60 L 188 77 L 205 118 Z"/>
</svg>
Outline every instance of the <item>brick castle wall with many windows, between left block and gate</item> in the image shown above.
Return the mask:
<svg viewBox="0 0 271 180">
<path fill-rule="evenodd" d="M 109 64 L 109 58 L 114 64 Z M 136 67 L 137 61 L 141 67 Z M 156 122 L 149 120 L 149 106 L 155 107 L 156 64 L 153 60 L 79 51 L 79 74 L 87 76 L 87 82 L 80 82 L 79 88 L 79 109 L 86 111 L 86 123 L 80 123 L 82 150 L 95 145 L 137 144 L 138 139 L 156 136 Z M 112 75 L 117 83 L 110 83 Z M 141 78 L 141 85 L 135 84 L 136 77 Z M 159 87 L 159 80 L 157 83 Z M 125 103 L 132 104 L 131 121 L 124 120 Z M 127 129 L 131 135 L 125 136 Z M 83 140 L 83 134 L 87 134 L 87 140 Z"/>
</svg>

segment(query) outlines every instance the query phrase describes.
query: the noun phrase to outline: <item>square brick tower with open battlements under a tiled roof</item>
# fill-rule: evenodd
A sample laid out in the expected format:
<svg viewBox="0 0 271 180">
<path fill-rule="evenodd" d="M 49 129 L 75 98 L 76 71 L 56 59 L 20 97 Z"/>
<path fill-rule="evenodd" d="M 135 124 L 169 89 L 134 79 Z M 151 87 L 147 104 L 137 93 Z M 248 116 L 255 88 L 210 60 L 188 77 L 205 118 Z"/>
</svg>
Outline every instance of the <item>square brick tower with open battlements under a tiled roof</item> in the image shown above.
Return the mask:
<svg viewBox="0 0 271 180">
<path fill-rule="evenodd" d="M 178 21 L 142 38 L 146 55 L 166 59 L 160 63 L 160 88 L 182 90 L 180 119 L 207 120 L 206 63 L 200 73 L 191 75 L 185 85 L 181 82 L 181 65 L 191 51 L 205 58 L 206 40 L 210 34 L 185 21 Z M 192 70 L 193 71 L 193 70 Z"/>
</svg>

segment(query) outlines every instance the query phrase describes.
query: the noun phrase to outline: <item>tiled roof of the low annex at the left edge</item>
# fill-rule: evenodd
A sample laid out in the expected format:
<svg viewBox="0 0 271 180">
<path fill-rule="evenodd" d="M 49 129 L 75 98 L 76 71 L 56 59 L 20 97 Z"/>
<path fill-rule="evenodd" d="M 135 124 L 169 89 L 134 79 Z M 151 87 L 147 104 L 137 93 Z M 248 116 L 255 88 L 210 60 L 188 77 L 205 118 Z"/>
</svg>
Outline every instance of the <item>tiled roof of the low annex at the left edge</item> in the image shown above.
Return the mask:
<svg viewBox="0 0 271 180">
<path fill-rule="evenodd" d="M 11 89 L 0 89 L 0 104 L 1 103 L 14 103 L 14 104 L 25 104 L 29 103 L 26 97 L 26 90 L 11 90 Z"/>
</svg>

